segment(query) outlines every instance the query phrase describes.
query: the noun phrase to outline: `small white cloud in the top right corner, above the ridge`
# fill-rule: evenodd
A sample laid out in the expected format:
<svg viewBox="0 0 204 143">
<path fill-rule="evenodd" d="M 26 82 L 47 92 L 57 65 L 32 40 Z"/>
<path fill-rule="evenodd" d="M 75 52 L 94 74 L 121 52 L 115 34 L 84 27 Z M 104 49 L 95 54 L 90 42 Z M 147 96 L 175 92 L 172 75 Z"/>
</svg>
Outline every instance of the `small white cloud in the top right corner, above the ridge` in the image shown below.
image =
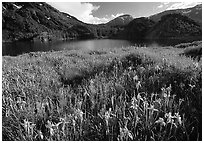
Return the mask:
<svg viewBox="0 0 204 143">
<path fill-rule="evenodd" d="M 166 10 L 185 9 L 185 8 L 196 6 L 197 4 L 200 4 L 200 3 L 201 2 L 178 2 L 170 5 Z"/>
</svg>

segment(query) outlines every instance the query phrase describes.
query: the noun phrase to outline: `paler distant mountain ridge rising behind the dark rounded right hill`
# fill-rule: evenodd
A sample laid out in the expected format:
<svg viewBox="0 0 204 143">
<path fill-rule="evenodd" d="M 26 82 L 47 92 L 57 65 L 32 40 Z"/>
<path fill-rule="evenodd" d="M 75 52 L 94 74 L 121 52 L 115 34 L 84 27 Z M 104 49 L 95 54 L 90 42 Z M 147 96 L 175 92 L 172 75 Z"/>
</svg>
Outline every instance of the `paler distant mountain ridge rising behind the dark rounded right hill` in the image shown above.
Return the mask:
<svg viewBox="0 0 204 143">
<path fill-rule="evenodd" d="M 167 10 L 167 11 L 152 15 L 149 18 L 155 22 L 158 22 L 162 16 L 167 15 L 167 14 L 174 14 L 174 13 L 180 13 L 184 16 L 187 16 L 193 19 L 199 24 L 202 23 L 202 4 L 196 5 L 191 8 L 186 8 L 186 9 Z"/>
</svg>

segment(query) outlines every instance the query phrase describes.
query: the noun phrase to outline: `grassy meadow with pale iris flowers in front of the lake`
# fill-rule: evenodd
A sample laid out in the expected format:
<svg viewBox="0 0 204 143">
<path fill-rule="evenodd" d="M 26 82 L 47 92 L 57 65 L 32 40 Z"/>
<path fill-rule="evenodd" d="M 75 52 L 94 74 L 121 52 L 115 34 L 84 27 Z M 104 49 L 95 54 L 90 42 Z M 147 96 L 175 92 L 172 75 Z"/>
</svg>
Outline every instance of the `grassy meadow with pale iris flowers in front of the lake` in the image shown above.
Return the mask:
<svg viewBox="0 0 204 143">
<path fill-rule="evenodd" d="M 3 140 L 202 140 L 202 63 L 174 47 L 3 57 Z"/>
</svg>

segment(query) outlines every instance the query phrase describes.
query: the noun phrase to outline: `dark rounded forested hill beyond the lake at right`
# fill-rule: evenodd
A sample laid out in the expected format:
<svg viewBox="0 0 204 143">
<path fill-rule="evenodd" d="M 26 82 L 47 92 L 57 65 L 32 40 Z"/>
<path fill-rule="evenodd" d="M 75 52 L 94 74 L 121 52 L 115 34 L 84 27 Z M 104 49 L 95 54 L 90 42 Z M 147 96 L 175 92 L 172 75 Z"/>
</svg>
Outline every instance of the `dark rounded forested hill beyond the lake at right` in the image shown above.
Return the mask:
<svg viewBox="0 0 204 143">
<path fill-rule="evenodd" d="M 202 27 L 182 14 L 168 14 L 161 17 L 146 34 L 146 39 L 201 40 Z"/>
</svg>

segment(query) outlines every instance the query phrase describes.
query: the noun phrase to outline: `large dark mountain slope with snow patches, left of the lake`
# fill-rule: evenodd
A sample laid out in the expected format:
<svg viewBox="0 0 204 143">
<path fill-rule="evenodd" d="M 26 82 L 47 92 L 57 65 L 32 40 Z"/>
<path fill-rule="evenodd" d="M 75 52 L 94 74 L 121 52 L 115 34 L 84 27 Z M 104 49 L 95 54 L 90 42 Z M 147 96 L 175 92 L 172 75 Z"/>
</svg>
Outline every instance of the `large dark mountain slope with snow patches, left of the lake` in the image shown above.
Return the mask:
<svg viewBox="0 0 204 143">
<path fill-rule="evenodd" d="M 77 26 L 80 27 L 78 31 Z M 89 27 L 44 2 L 2 3 L 3 41 L 31 40 L 35 37 L 43 40 L 93 38 L 94 33 Z"/>
</svg>

